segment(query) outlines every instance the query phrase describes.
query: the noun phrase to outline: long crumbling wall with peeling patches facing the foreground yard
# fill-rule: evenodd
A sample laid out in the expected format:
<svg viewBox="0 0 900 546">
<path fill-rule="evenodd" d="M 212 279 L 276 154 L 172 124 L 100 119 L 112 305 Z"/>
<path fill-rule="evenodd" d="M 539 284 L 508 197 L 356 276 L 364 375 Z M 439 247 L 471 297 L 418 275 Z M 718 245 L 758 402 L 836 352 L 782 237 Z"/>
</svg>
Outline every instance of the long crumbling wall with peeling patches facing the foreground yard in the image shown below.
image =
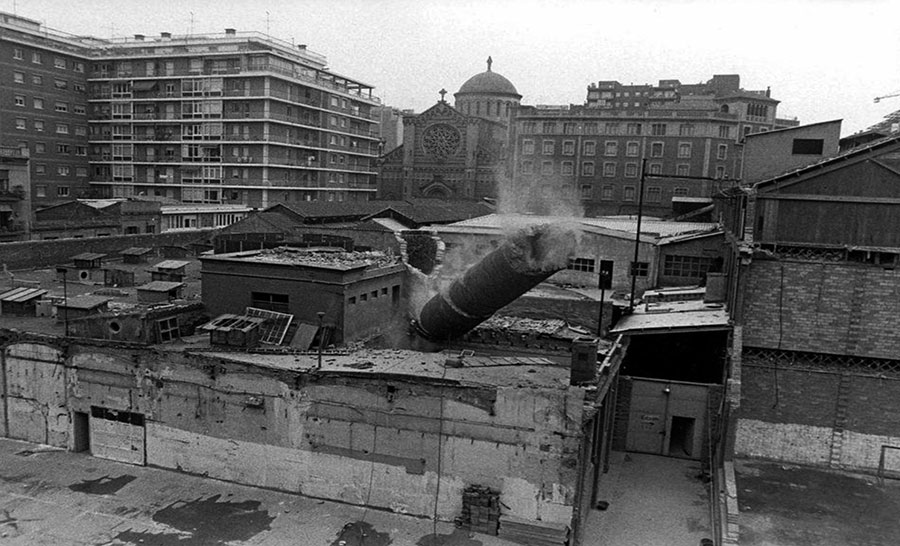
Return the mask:
<svg viewBox="0 0 900 546">
<path fill-rule="evenodd" d="M 478 484 L 509 515 L 572 521 L 581 389 L 310 374 L 99 342 L 66 354 L 7 348 L 9 436 L 71 447 L 69 415 L 103 408 L 144 416 L 149 465 L 445 520 Z"/>
</svg>

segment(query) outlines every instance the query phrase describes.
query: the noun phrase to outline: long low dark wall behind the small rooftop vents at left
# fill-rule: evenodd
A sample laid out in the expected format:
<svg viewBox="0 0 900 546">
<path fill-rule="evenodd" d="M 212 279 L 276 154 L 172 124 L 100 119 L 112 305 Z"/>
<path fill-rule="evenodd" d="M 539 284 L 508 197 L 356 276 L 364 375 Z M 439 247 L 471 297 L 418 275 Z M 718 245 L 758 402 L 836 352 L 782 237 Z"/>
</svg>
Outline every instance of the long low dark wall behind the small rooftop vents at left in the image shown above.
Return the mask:
<svg viewBox="0 0 900 546">
<path fill-rule="evenodd" d="M 28 269 L 69 263 L 83 252 L 115 255 L 126 248 L 186 246 L 206 243 L 215 230 L 198 230 L 152 235 L 122 235 L 90 239 L 56 239 L 0 244 L 0 264 L 9 269 Z"/>
</svg>

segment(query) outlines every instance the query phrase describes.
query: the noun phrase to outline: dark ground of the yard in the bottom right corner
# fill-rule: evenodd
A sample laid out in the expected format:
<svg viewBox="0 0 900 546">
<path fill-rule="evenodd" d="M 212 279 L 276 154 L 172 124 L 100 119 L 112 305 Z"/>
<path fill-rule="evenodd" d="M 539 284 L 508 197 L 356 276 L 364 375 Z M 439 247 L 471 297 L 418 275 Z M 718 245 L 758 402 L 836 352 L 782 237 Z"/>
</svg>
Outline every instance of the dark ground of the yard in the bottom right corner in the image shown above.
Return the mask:
<svg viewBox="0 0 900 546">
<path fill-rule="evenodd" d="M 741 546 L 896 546 L 900 481 L 735 461 Z"/>
</svg>

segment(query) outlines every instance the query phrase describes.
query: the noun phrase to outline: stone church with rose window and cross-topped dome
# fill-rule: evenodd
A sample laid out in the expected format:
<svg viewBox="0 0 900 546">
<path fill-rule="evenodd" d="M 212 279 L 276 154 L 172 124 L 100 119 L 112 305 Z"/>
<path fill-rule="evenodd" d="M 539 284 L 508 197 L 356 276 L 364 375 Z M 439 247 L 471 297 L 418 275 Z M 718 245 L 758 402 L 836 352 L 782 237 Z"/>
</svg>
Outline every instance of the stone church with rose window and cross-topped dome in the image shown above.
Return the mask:
<svg viewBox="0 0 900 546">
<path fill-rule="evenodd" d="M 403 143 L 381 158 L 380 199 L 481 200 L 497 196 L 506 176 L 510 120 L 522 96 L 491 70 L 466 81 L 453 96 L 403 118 Z"/>
</svg>

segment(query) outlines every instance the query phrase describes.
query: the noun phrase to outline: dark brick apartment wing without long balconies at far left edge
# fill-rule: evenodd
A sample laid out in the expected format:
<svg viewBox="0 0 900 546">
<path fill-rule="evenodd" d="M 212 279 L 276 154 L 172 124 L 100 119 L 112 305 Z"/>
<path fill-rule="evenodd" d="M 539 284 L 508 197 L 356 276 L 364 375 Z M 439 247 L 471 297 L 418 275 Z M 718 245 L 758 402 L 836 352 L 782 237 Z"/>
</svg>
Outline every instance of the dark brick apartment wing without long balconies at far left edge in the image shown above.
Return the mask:
<svg viewBox="0 0 900 546">
<path fill-rule="evenodd" d="M 0 13 L 0 145 L 29 150 L 37 208 L 89 193 L 87 59 L 98 43 Z"/>
</svg>

